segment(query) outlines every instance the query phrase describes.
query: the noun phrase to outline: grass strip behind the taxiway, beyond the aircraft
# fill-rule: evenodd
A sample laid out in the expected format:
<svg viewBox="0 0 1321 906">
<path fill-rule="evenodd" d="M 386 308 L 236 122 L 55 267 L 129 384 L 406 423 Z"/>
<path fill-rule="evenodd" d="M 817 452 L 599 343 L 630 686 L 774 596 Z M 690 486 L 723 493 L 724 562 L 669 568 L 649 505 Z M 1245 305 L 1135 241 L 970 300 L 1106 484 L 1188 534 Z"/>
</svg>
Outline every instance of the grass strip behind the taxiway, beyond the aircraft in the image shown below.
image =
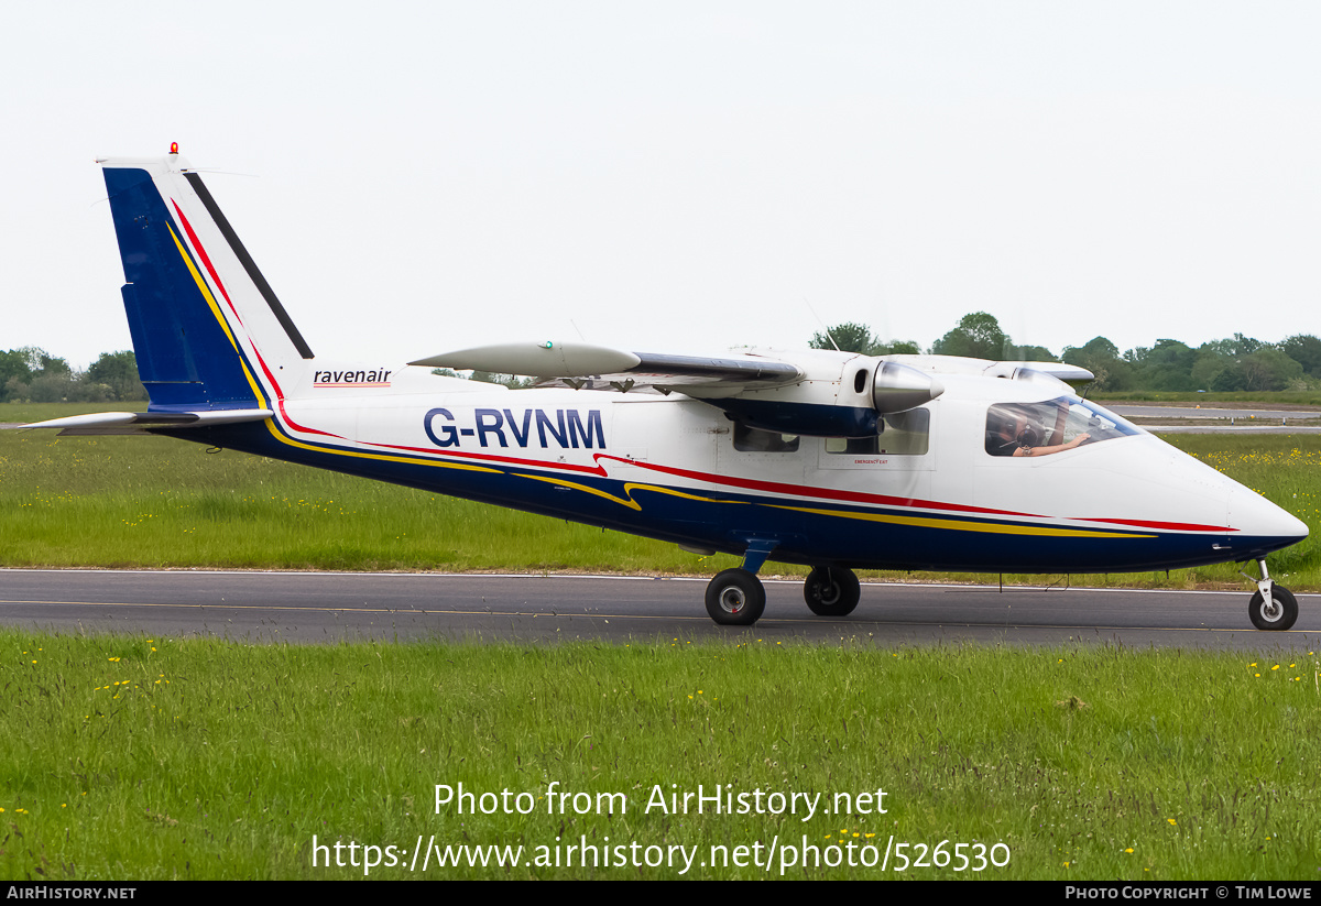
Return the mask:
<svg viewBox="0 0 1321 906">
<path fill-rule="evenodd" d="M 0 421 L 74 407 L 0 407 Z M 1321 437 L 1174 435 L 1170 442 L 1236 478 L 1312 528 L 1272 555 L 1276 578 L 1321 590 Z M 351 527 L 351 531 L 347 528 Z M 162 437 L 57 438 L 0 432 L 0 532 L 5 567 L 239 567 L 699 573 L 738 565 L 672 544 L 469 503 Z M 801 568 L 768 565 L 768 575 Z M 927 573 L 869 573 L 927 578 Z M 985 581 L 987 576 L 939 575 Z M 1063 576 L 1009 576 L 1044 584 Z M 1087 585 L 1243 586 L 1234 565 L 1127 576 Z"/>
</svg>

